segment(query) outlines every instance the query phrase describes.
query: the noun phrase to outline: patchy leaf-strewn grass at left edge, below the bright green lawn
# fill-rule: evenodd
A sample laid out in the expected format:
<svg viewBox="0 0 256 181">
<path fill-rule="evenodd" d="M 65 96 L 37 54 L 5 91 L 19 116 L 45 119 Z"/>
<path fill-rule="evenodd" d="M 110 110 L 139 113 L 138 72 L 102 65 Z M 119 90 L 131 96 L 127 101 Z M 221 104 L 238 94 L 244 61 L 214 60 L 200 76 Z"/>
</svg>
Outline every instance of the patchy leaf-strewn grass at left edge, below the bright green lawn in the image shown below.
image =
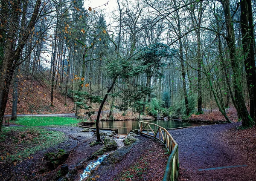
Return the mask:
<svg viewBox="0 0 256 181">
<path fill-rule="evenodd" d="M 3 127 L 0 133 L 0 163 L 32 159 L 35 152 L 65 140 L 63 132 L 35 127 Z"/>
</svg>

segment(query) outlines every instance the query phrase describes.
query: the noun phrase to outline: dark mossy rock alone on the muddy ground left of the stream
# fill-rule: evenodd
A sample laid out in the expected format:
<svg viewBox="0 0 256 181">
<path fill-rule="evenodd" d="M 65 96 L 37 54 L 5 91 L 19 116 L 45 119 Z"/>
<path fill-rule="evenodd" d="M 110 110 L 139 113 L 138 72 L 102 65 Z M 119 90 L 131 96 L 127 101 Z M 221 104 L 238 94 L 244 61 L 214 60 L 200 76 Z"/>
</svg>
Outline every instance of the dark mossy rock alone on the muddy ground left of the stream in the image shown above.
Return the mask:
<svg viewBox="0 0 256 181">
<path fill-rule="evenodd" d="M 67 160 L 68 156 L 69 153 L 66 153 L 64 149 L 60 149 L 57 154 L 50 152 L 44 155 L 50 169 L 55 169 L 60 164 L 63 164 Z"/>
</svg>

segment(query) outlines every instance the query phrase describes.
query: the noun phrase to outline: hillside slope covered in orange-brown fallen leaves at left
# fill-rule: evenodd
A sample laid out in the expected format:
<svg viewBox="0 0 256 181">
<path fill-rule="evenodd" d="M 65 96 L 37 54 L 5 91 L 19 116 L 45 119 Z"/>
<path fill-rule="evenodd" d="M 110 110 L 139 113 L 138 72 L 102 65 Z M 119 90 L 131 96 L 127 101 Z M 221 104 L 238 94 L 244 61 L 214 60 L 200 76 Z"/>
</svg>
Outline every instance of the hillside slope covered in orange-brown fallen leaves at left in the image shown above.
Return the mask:
<svg viewBox="0 0 256 181">
<path fill-rule="evenodd" d="M 11 89 L 5 115 L 12 114 L 12 92 Z M 61 95 L 58 87 L 54 92 L 55 106 L 50 106 L 50 87 L 40 85 L 37 82 L 33 82 L 32 85 L 29 82 L 20 83 L 18 95 L 17 114 L 61 114 L 75 112 L 73 110 L 74 103 L 70 98 L 67 99 L 67 106 L 64 106 L 65 98 Z"/>
</svg>

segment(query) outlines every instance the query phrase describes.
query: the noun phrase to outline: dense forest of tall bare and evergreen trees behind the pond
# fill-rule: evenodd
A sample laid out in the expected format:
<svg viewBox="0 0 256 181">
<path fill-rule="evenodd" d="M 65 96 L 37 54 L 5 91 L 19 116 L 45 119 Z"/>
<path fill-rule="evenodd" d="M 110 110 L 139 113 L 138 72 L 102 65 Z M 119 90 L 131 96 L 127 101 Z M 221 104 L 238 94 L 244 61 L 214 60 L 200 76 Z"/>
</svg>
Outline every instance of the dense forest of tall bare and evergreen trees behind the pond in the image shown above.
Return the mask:
<svg viewBox="0 0 256 181">
<path fill-rule="evenodd" d="M 36 81 L 51 106 L 56 91 L 82 109 L 106 95 L 124 114 L 218 108 L 227 122 L 234 106 L 242 128 L 254 124 L 255 3 L 117 0 L 110 14 L 102 7 L 108 2 L 1 1 L 1 119 L 8 99 L 15 112 L 19 92 Z"/>
</svg>

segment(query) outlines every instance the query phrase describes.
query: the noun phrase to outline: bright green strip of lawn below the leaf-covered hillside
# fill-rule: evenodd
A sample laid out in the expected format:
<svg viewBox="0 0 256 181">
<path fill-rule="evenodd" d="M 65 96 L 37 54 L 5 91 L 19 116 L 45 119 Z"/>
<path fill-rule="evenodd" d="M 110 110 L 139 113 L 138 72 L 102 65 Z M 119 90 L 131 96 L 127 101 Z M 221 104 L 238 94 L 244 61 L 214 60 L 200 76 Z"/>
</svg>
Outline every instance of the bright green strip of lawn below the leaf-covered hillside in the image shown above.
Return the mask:
<svg viewBox="0 0 256 181">
<path fill-rule="evenodd" d="M 16 121 L 11 121 L 23 126 L 53 126 L 53 125 L 70 125 L 77 124 L 79 120 L 75 118 L 63 118 L 63 117 L 36 117 L 36 116 L 24 116 L 18 117 Z"/>
</svg>

